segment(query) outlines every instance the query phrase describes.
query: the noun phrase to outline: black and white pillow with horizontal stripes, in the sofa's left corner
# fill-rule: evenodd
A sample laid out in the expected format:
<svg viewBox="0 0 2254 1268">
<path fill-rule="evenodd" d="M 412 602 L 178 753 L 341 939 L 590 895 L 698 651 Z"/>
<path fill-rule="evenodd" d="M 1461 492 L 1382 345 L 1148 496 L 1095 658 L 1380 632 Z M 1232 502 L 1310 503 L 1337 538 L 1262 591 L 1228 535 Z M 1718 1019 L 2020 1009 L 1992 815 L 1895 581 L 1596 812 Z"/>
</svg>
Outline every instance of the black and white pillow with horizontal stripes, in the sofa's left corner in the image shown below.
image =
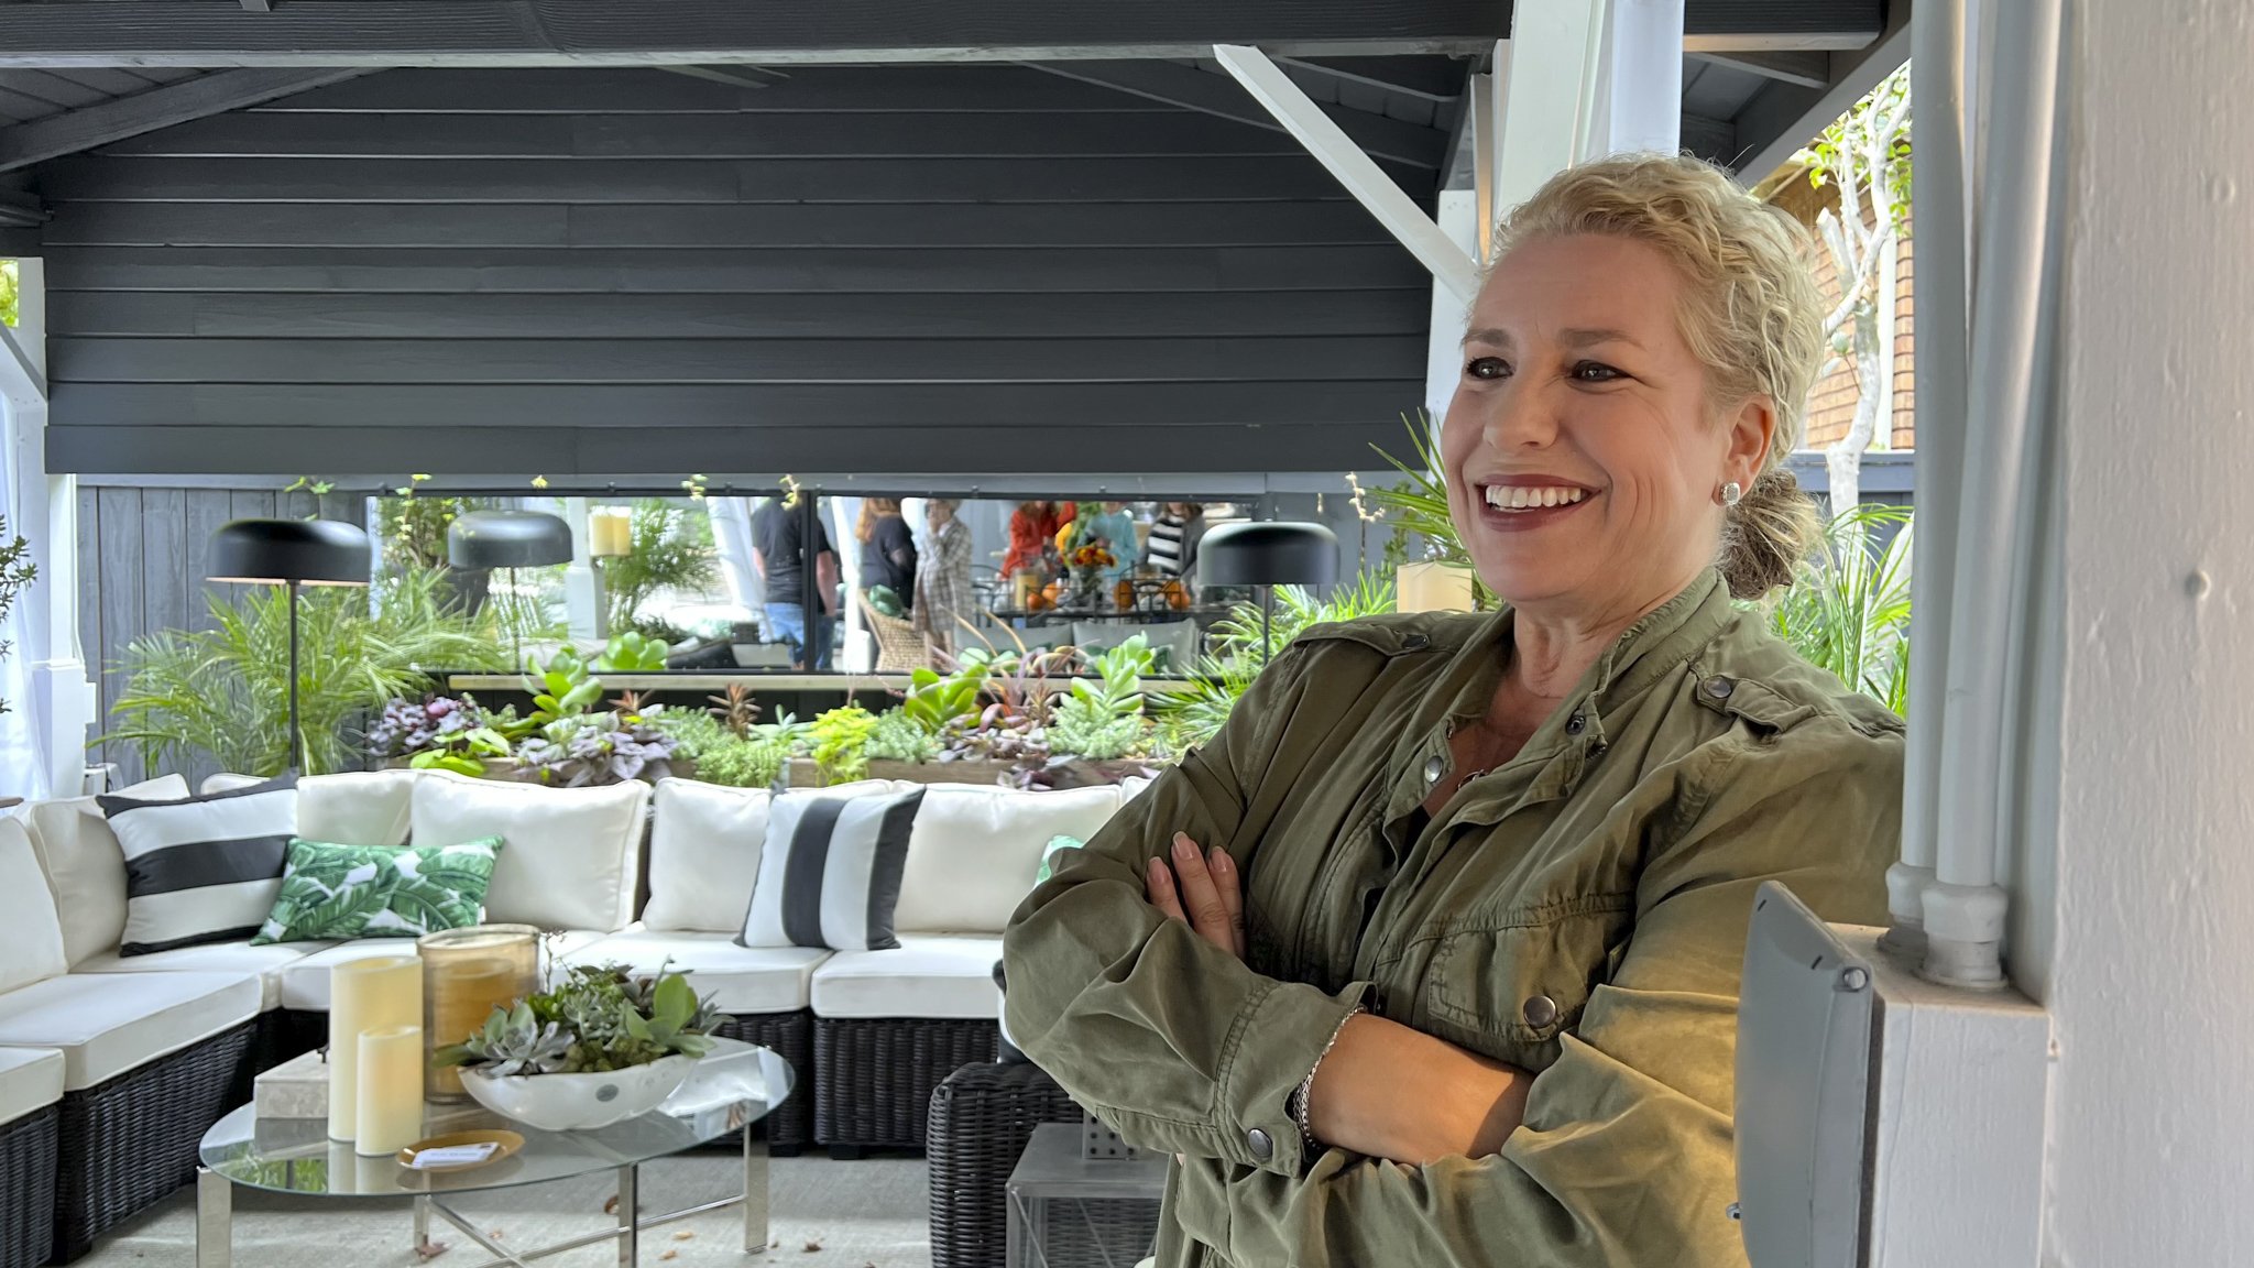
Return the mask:
<svg viewBox="0 0 2254 1268">
<path fill-rule="evenodd" d="M 239 943 L 259 932 L 298 833 L 298 776 L 187 801 L 101 796 L 126 853 L 117 954 Z"/>
</svg>

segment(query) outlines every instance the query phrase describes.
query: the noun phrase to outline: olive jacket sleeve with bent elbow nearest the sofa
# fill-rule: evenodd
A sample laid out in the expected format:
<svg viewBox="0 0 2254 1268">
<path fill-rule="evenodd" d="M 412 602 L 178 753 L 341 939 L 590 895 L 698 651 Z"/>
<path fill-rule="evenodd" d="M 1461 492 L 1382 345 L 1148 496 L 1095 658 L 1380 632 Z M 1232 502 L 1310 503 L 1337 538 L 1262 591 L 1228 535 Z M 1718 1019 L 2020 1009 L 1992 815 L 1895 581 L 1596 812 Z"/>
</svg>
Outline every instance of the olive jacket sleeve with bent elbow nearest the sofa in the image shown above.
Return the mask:
<svg viewBox="0 0 2254 1268">
<path fill-rule="evenodd" d="M 1134 1144 L 1301 1171 L 1289 1094 L 1364 995 L 1278 981 L 1170 921 L 1143 896 L 1177 830 L 1226 844 L 1246 887 L 1262 844 L 1246 805 L 1307 686 L 1283 652 L 1219 736 L 1129 801 L 1032 891 L 1003 934 L 1010 1038 Z"/>
</svg>

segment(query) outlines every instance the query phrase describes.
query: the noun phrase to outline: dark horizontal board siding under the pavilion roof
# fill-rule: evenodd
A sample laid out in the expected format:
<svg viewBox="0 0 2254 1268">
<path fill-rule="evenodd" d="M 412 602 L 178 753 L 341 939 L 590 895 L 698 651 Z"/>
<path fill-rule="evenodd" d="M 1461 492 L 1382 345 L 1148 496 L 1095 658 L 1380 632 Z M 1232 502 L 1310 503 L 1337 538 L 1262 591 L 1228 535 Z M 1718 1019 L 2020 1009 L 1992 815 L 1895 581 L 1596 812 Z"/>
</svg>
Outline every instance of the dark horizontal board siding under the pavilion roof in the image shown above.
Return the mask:
<svg viewBox="0 0 2254 1268">
<path fill-rule="evenodd" d="M 38 183 L 63 469 L 1350 469 L 1422 395 L 1296 142 L 1026 68 L 383 72 Z"/>
</svg>

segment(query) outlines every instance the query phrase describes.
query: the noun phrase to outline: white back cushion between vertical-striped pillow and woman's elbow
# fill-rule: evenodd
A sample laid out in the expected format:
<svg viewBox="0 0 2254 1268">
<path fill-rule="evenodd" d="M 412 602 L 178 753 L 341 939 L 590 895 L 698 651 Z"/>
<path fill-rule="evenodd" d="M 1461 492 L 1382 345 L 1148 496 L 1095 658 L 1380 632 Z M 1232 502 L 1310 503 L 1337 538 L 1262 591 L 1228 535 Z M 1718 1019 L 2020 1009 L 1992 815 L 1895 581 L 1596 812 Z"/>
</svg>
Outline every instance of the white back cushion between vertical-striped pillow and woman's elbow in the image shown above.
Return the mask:
<svg viewBox="0 0 2254 1268">
<path fill-rule="evenodd" d="M 893 930 L 917 934 L 1001 934 L 1032 893 L 1050 837 L 1086 842 L 1120 808 L 1120 790 L 1017 792 L 933 783 L 908 837 Z"/>
</svg>

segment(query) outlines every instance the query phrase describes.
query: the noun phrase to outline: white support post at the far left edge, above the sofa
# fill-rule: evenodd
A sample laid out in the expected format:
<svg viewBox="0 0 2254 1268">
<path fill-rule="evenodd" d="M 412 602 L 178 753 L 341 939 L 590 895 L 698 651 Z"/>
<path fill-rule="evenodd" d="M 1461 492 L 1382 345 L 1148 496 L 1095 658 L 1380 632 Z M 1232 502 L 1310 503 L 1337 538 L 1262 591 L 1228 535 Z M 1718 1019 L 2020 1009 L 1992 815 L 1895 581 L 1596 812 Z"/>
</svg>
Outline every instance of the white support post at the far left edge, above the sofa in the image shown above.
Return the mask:
<svg viewBox="0 0 2254 1268">
<path fill-rule="evenodd" d="M 79 648 L 79 483 L 47 474 L 47 289 L 41 259 L 16 264 L 16 329 L 0 327 L 0 413 L 9 442 L 9 532 L 32 548 L 38 580 L 18 596 L 27 699 L 9 702 L 32 727 L 36 769 L 9 778 L 18 796 L 74 796 L 86 783 L 86 738 L 99 695 Z"/>
</svg>

